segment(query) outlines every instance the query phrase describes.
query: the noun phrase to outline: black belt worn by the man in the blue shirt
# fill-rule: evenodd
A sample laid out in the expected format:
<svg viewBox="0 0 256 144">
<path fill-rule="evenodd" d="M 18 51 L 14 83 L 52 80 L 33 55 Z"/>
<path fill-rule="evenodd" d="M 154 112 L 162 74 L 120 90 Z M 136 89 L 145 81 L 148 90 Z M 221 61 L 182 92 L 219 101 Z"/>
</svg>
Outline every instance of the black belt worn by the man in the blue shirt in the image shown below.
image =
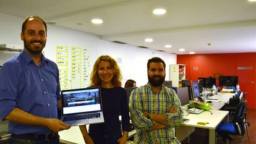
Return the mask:
<svg viewBox="0 0 256 144">
<path fill-rule="evenodd" d="M 45 135 L 26 133 L 21 135 L 11 134 L 11 138 L 21 138 L 26 140 L 49 140 L 58 136 L 58 132 L 46 133 Z"/>
</svg>

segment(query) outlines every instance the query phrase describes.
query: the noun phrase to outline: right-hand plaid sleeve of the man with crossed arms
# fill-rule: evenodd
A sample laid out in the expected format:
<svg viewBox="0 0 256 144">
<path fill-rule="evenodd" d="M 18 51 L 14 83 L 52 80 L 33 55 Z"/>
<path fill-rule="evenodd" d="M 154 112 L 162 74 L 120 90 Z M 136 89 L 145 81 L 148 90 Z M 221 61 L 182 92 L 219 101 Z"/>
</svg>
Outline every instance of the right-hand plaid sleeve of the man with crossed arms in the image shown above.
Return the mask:
<svg viewBox="0 0 256 144">
<path fill-rule="evenodd" d="M 177 127 L 182 124 L 183 120 L 183 111 L 181 106 L 181 101 L 179 101 L 179 98 L 174 90 L 171 91 L 171 99 L 173 101 L 173 106 L 177 110 L 174 113 L 166 113 L 167 117 L 167 124 L 169 126 Z"/>
</svg>

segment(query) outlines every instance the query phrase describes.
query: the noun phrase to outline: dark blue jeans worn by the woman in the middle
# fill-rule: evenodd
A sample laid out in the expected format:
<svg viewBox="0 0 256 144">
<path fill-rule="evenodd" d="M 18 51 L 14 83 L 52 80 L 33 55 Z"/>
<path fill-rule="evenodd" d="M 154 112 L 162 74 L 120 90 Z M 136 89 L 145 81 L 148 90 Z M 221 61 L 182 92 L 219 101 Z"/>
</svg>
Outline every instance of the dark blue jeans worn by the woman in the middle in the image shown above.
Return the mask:
<svg viewBox="0 0 256 144">
<path fill-rule="evenodd" d="M 89 135 L 95 144 L 118 144 L 117 140 L 122 137 L 122 132 L 121 130 L 117 130 L 108 134 L 100 134 L 89 130 Z"/>
</svg>

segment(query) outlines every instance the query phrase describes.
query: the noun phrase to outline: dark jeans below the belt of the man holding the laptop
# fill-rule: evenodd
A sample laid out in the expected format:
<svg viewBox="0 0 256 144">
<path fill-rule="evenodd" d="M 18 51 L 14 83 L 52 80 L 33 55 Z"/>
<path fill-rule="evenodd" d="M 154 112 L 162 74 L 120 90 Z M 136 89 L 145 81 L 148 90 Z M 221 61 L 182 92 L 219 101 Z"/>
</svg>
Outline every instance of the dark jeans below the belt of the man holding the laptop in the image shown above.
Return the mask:
<svg viewBox="0 0 256 144">
<path fill-rule="evenodd" d="M 11 137 L 9 144 L 59 144 L 59 135 L 58 137 L 50 138 L 49 140 L 27 140 L 22 138 L 13 138 Z"/>
</svg>

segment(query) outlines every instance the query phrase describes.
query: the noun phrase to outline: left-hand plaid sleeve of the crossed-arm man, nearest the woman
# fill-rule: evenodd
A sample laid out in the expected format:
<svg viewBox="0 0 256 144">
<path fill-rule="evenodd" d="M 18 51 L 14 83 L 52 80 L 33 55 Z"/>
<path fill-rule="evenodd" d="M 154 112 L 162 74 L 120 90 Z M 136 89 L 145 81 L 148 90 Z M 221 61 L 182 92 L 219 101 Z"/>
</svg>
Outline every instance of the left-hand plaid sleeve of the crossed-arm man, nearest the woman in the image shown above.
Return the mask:
<svg viewBox="0 0 256 144">
<path fill-rule="evenodd" d="M 151 129 L 151 126 L 154 125 L 155 122 L 147 119 L 147 117 L 143 115 L 143 103 L 141 97 L 142 90 L 139 90 L 139 88 L 133 90 L 130 94 L 129 108 L 132 124 L 134 124 L 137 129 Z"/>
</svg>

